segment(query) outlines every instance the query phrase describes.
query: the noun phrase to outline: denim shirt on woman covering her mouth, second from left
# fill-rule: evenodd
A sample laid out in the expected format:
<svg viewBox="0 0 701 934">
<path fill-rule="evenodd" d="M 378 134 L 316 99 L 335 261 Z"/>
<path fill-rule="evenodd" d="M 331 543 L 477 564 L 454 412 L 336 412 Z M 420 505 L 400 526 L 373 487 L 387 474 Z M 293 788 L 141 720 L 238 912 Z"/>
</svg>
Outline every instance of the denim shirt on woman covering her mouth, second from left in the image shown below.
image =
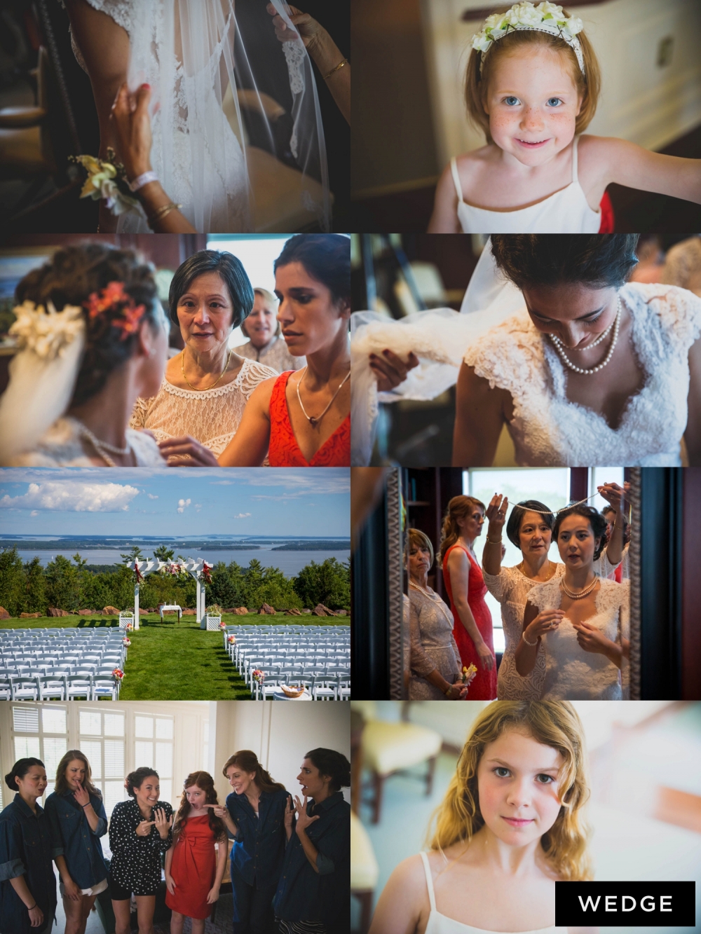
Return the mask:
<svg viewBox="0 0 701 934">
<path fill-rule="evenodd" d="M 46 813 L 51 827 L 51 856 L 63 856 L 71 879 L 79 888 L 92 888 L 107 879 L 107 865 L 102 856 L 100 837 L 107 833 L 107 814 L 102 799 L 90 796 L 97 814 L 97 829 L 93 830 L 72 791 L 46 800 Z"/>
</svg>

